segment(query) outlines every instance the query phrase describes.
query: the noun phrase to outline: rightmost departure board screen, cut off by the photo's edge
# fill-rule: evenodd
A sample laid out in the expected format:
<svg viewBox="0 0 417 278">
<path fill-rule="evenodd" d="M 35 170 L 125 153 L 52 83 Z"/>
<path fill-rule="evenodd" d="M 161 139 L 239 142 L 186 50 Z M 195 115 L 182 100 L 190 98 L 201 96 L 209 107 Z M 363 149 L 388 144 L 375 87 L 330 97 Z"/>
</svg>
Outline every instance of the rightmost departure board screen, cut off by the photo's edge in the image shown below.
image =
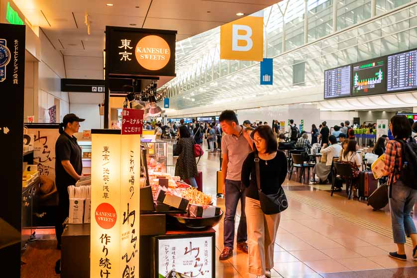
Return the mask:
<svg viewBox="0 0 417 278">
<path fill-rule="evenodd" d="M 387 91 L 417 89 L 417 50 L 388 56 Z"/>
</svg>

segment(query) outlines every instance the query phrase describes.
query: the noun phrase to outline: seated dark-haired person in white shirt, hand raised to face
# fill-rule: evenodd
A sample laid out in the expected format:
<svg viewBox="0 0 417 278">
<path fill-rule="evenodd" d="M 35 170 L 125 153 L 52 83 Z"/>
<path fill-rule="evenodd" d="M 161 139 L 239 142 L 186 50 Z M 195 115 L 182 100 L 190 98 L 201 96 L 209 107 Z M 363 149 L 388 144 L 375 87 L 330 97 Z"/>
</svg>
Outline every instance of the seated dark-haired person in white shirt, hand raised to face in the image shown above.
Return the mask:
<svg viewBox="0 0 417 278">
<path fill-rule="evenodd" d="M 314 166 L 313 173 L 317 175 L 320 183 L 324 183 L 327 181 L 328 176 L 330 174 L 331 165 L 333 163 L 333 158 L 338 157 L 342 146 L 337 144 L 337 139 L 334 135 L 329 136 L 330 145 L 324 144 L 320 150 L 320 153 L 327 157 L 326 163 L 317 163 Z"/>
</svg>

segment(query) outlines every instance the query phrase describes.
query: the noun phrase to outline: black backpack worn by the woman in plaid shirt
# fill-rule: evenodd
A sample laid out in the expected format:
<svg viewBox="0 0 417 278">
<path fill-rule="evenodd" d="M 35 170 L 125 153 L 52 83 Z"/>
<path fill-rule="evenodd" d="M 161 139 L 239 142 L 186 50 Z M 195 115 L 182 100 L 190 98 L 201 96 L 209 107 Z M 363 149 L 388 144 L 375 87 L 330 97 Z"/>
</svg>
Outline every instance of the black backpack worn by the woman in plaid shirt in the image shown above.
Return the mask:
<svg viewBox="0 0 417 278">
<path fill-rule="evenodd" d="M 400 180 L 404 185 L 417 190 L 417 143 L 414 140 L 406 142 L 396 140 L 401 143 L 403 167 L 398 169 Z"/>
</svg>

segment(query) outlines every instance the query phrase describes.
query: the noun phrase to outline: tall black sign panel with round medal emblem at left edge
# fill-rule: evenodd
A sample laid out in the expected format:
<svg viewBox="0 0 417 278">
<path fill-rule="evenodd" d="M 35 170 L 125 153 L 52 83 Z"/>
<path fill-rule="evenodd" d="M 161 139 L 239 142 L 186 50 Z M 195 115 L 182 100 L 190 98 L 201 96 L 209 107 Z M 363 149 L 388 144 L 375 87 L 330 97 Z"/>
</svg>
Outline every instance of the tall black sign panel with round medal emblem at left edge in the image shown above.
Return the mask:
<svg viewBox="0 0 417 278">
<path fill-rule="evenodd" d="M 20 277 L 24 55 L 25 26 L 0 23 L 0 268 L 9 277 Z M 9 232 L 1 232 L 4 226 Z"/>
</svg>

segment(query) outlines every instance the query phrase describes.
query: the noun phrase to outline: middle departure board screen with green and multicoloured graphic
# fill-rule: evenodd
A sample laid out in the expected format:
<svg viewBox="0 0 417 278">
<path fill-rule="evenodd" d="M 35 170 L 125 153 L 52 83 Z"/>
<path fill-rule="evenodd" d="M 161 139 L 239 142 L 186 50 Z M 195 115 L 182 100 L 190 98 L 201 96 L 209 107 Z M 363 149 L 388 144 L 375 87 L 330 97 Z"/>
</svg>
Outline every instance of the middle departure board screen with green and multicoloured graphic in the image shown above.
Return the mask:
<svg viewBox="0 0 417 278">
<path fill-rule="evenodd" d="M 387 57 L 352 64 L 352 96 L 387 93 Z"/>
</svg>

